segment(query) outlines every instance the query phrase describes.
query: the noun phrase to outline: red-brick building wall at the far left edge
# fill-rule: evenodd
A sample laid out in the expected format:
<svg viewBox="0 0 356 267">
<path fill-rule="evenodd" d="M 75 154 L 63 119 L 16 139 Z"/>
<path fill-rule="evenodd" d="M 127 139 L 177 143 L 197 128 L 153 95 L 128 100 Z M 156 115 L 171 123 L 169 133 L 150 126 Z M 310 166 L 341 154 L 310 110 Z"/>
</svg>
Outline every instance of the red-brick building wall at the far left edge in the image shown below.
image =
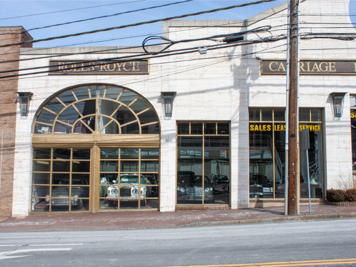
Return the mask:
<svg viewBox="0 0 356 267">
<path fill-rule="evenodd" d="M 33 40 L 23 27 L 0 27 L 0 44 Z M 32 47 L 26 44 L 21 47 Z M 19 58 L 20 46 L 0 48 L 0 71 L 18 69 L 18 62 L 2 63 Z M 12 72 L 11 74 L 17 74 Z M 1 78 L 0 73 L 0 217 L 12 216 L 14 148 L 16 134 L 17 78 Z"/>
</svg>

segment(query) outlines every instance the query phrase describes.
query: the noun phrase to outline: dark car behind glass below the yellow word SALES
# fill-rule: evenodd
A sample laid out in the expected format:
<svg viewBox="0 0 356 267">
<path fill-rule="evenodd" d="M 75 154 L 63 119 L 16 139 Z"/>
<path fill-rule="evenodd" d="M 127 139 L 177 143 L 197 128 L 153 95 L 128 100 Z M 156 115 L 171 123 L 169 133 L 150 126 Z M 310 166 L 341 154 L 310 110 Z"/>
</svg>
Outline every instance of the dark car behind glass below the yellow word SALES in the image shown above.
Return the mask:
<svg viewBox="0 0 356 267">
<path fill-rule="evenodd" d="M 250 173 L 250 198 L 273 198 L 273 183 L 266 175 Z"/>
</svg>

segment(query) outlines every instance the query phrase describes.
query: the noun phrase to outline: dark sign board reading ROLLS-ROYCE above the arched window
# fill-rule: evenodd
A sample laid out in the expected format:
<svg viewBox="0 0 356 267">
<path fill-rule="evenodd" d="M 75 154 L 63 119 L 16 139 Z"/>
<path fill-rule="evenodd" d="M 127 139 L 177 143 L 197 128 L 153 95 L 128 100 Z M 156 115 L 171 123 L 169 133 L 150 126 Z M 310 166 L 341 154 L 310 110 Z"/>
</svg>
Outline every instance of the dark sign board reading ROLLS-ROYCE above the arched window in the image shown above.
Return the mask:
<svg viewBox="0 0 356 267">
<path fill-rule="evenodd" d="M 49 75 L 58 74 L 149 74 L 149 60 L 135 61 L 49 61 Z"/>
</svg>

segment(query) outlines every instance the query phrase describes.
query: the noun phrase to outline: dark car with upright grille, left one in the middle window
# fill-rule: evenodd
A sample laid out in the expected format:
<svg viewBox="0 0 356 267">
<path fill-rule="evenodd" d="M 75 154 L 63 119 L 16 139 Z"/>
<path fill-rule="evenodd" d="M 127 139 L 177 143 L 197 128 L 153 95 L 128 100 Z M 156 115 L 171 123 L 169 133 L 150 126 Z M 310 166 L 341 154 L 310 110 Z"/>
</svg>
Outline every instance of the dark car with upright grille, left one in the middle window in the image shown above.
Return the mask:
<svg viewBox="0 0 356 267">
<path fill-rule="evenodd" d="M 214 199 L 214 187 L 209 178 L 204 176 L 204 190 L 202 175 L 180 175 L 177 181 L 177 199 L 180 200 L 204 200 Z"/>
</svg>

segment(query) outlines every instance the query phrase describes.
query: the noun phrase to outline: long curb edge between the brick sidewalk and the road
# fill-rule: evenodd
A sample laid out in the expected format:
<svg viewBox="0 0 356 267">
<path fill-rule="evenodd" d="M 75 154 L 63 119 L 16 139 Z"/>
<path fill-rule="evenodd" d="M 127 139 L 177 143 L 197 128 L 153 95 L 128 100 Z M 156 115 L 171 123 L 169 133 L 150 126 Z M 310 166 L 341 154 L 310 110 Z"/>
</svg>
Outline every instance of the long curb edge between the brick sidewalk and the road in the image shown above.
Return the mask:
<svg viewBox="0 0 356 267">
<path fill-rule="evenodd" d="M 256 224 L 256 223 L 274 223 L 282 221 L 306 221 L 306 220 L 325 220 L 325 219 L 343 219 L 355 218 L 356 212 L 328 213 L 328 214 L 309 214 L 298 216 L 283 216 L 260 219 L 245 219 L 245 220 L 229 220 L 215 222 L 196 222 L 176 226 L 160 226 L 160 227 L 127 227 L 127 228 L 99 228 L 99 229 L 46 229 L 46 230 L 14 230 L 0 232 L 63 232 L 63 231 L 112 231 L 112 230 L 141 230 L 141 229 L 168 229 L 177 227 L 197 227 L 197 226 L 214 226 L 214 225 L 235 225 L 235 224 Z"/>
</svg>

